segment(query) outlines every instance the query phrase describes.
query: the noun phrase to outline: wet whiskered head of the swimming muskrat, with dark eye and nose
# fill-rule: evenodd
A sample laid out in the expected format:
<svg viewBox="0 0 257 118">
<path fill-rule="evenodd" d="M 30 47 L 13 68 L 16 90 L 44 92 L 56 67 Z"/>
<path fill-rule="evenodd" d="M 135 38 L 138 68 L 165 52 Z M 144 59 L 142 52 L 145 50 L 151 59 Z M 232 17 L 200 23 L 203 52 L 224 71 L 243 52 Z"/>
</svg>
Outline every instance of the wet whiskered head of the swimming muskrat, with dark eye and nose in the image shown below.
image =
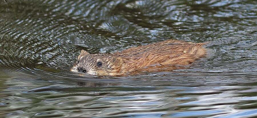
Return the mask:
<svg viewBox="0 0 257 118">
<path fill-rule="evenodd" d="M 71 71 L 92 75 L 121 75 L 123 74 L 123 62 L 121 57 L 111 54 L 89 54 L 81 50 L 78 61 Z"/>
</svg>

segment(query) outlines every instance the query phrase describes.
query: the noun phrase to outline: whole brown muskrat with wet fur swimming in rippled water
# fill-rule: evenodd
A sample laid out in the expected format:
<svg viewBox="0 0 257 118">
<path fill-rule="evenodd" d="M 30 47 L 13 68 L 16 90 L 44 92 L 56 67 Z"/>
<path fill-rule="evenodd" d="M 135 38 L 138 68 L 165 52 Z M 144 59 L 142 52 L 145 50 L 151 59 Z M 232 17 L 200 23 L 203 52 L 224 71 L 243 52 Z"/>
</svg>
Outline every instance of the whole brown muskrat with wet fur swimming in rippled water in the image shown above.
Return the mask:
<svg viewBox="0 0 257 118">
<path fill-rule="evenodd" d="M 187 65 L 206 54 L 206 49 L 202 47 L 204 44 L 166 40 L 113 54 L 89 54 L 81 50 L 71 71 L 93 75 L 124 75 L 150 71 L 154 65 L 160 69 L 169 65 Z"/>
</svg>

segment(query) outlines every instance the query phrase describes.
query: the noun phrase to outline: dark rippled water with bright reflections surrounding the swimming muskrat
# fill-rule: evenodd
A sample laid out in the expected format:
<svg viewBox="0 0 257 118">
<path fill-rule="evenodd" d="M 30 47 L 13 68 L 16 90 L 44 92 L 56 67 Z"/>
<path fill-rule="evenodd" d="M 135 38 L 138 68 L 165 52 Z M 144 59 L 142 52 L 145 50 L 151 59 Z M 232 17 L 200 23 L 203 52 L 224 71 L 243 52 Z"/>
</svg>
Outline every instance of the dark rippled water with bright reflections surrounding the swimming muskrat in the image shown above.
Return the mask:
<svg viewBox="0 0 257 118">
<path fill-rule="evenodd" d="M 0 117 L 257 117 L 257 3 L 2 0 Z M 190 68 L 127 77 L 69 72 L 90 53 L 210 41 Z M 61 67 L 61 68 L 55 68 Z"/>
</svg>

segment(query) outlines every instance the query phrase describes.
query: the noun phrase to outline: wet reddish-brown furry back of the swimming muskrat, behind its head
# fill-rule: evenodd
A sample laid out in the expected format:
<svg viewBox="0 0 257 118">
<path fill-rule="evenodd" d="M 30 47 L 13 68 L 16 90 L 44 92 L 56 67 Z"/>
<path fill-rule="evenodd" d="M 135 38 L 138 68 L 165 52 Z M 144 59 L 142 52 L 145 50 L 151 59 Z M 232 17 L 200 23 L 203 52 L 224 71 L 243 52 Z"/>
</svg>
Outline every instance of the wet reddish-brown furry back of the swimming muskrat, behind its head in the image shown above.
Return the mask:
<svg viewBox="0 0 257 118">
<path fill-rule="evenodd" d="M 115 53 L 115 55 L 123 58 L 127 64 L 125 66 L 128 71 L 147 67 L 152 64 L 186 65 L 206 54 L 206 49 L 202 47 L 204 44 L 166 40 L 150 45 L 132 47 Z"/>
</svg>

